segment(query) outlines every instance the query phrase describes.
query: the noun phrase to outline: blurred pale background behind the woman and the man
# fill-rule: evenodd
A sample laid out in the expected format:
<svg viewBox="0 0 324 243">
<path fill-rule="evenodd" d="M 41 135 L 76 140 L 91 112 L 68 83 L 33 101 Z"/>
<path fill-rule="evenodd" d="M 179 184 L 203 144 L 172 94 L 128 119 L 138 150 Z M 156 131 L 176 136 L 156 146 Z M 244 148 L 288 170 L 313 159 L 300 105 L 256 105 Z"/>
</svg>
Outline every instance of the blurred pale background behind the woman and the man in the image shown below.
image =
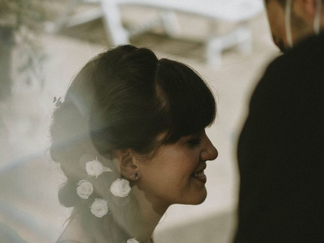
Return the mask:
<svg viewBox="0 0 324 243">
<path fill-rule="evenodd" d="M 63 99 L 91 57 L 126 43 L 187 63 L 218 100 L 207 130 L 219 151 L 207 164 L 208 197 L 170 207 L 155 242 L 231 241 L 237 138 L 251 92 L 279 55 L 261 0 L 0 1 L 1 242 L 55 242 L 63 231 L 69 209 L 57 192 L 64 175 L 48 153 L 53 99 Z M 5 234 L 16 241 L 3 241 Z"/>
</svg>

